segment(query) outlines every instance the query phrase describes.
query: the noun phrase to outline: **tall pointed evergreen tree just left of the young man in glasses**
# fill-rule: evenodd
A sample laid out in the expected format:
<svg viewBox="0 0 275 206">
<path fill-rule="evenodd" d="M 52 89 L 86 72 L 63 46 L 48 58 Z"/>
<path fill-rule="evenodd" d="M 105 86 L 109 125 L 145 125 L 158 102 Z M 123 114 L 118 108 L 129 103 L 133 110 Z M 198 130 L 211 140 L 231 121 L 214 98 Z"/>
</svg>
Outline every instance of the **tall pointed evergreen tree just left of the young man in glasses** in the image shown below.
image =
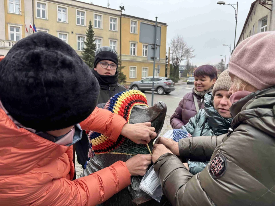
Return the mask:
<svg viewBox="0 0 275 206">
<path fill-rule="evenodd" d="M 83 49 L 82 52 L 82 59 L 90 68 L 93 68 L 94 66 L 95 51 L 97 49 L 94 42 L 94 35 L 95 32 L 93 30 L 92 21 L 90 20 L 89 27 L 86 31 L 86 40 L 84 41 L 86 47 Z"/>
</svg>

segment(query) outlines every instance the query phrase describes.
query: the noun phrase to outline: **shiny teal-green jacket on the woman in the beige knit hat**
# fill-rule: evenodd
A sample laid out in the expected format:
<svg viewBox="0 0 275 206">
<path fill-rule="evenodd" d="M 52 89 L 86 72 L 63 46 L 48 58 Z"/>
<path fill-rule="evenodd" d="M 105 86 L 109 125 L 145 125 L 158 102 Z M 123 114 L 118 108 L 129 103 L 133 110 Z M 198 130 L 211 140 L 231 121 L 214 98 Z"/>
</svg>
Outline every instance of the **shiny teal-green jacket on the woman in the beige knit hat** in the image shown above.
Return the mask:
<svg viewBox="0 0 275 206">
<path fill-rule="evenodd" d="M 223 118 L 213 104 L 211 93 L 204 96 L 204 109 L 199 110 L 196 116 L 190 118 L 185 129 L 192 137 L 206 135 L 221 135 L 227 133 L 233 118 Z"/>
</svg>

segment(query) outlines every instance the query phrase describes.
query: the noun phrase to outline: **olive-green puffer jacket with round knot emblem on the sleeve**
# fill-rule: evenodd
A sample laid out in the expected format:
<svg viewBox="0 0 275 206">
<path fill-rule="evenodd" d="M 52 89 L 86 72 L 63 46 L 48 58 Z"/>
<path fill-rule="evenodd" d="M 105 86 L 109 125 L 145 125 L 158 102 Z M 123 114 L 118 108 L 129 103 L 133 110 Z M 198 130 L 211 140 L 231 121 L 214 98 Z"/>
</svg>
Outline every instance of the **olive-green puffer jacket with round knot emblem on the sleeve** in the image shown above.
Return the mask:
<svg viewBox="0 0 275 206">
<path fill-rule="evenodd" d="M 275 87 L 254 92 L 231 108 L 231 132 L 179 141 L 180 157 L 209 160 L 193 176 L 166 153 L 154 164 L 172 205 L 274 205 Z"/>
</svg>

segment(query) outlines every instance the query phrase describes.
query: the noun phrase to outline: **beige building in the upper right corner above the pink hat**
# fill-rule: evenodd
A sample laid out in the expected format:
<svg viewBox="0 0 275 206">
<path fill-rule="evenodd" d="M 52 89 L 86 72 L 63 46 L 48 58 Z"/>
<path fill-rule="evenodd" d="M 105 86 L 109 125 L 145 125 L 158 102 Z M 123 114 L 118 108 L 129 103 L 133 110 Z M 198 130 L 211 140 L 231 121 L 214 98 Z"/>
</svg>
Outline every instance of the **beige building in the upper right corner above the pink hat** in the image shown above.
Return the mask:
<svg viewBox="0 0 275 206">
<path fill-rule="evenodd" d="M 273 15 L 272 15 L 273 14 Z M 256 0 L 251 4 L 237 45 L 260 32 L 275 30 L 275 5 L 273 1 Z"/>
</svg>

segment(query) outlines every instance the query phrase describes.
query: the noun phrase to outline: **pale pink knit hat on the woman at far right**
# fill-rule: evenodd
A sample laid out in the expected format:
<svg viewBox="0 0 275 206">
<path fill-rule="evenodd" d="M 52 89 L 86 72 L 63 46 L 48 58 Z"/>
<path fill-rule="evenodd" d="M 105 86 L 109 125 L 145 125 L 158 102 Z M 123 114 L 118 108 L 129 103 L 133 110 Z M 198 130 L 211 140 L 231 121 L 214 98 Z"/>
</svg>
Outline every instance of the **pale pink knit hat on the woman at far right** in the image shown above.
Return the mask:
<svg viewBox="0 0 275 206">
<path fill-rule="evenodd" d="M 239 43 L 228 72 L 258 90 L 275 86 L 275 31 L 258 33 Z"/>
</svg>

